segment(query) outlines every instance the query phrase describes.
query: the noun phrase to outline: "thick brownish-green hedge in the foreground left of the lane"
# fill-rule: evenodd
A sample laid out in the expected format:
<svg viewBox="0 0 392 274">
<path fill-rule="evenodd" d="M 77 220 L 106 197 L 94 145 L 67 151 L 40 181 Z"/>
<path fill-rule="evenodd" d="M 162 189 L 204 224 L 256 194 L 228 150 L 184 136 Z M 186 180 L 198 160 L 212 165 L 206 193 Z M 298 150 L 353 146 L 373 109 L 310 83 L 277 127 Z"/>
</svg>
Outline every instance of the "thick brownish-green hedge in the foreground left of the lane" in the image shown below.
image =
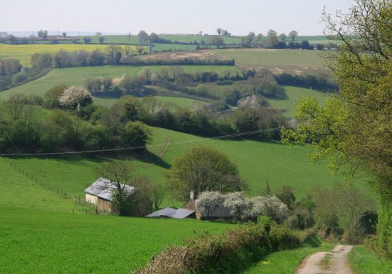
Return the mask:
<svg viewBox="0 0 392 274">
<path fill-rule="evenodd" d="M 263 226 L 248 224 L 217 236 L 204 233 L 183 246 L 167 248 L 136 273 L 239 273 L 268 253 L 298 245 L 293 231 L 274 226 L 268 233 Z"/>
</svg>

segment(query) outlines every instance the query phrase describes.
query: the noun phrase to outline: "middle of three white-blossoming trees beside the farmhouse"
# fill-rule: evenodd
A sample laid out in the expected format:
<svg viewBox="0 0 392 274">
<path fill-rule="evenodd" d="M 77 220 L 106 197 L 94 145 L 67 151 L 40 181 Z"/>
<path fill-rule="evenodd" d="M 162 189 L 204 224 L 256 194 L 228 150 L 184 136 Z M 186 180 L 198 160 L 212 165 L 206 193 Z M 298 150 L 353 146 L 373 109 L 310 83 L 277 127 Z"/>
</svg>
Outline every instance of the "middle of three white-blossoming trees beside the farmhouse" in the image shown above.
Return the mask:
<svg viewBox="0 0 392 274">
<path fill-rule="evenodd" d="M 242 192 L 232 192 L 225 195 L 223 206 L 227 207 L 234 218 L 249 216 L 252 207 L 251 201 Z"/>
</svg>

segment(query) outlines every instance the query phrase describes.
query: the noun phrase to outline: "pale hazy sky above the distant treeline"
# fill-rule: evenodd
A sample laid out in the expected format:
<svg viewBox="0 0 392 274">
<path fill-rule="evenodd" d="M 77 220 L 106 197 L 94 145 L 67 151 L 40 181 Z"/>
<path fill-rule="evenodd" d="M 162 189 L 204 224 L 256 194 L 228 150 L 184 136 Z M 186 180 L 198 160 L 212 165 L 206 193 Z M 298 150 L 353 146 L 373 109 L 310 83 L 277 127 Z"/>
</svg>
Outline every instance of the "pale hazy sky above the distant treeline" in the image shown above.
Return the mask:
<svg viewBox="0 0 392 274">
<path fill-rule="evenodd" d="M 344 13 L 350 0 L 0 0 L 0 31 L 321 35 L 321 12 Z"/>
</svg>

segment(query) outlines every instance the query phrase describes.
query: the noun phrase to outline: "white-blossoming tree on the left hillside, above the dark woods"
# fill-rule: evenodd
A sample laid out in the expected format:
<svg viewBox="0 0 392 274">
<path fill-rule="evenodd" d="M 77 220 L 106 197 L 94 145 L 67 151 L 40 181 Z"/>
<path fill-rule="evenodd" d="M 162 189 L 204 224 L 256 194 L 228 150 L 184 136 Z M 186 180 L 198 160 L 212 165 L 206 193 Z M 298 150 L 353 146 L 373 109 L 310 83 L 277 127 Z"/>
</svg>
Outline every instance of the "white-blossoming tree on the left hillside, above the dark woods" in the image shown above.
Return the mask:
<svg viewBox="0 0 392 274">
<path fill-rule="evenodd" d="M 58 101 L 64 107 L 83 107 L 93 102 L 93 97 L 88 90 L 75 85 L 63 91 Z"/>
</svg>

